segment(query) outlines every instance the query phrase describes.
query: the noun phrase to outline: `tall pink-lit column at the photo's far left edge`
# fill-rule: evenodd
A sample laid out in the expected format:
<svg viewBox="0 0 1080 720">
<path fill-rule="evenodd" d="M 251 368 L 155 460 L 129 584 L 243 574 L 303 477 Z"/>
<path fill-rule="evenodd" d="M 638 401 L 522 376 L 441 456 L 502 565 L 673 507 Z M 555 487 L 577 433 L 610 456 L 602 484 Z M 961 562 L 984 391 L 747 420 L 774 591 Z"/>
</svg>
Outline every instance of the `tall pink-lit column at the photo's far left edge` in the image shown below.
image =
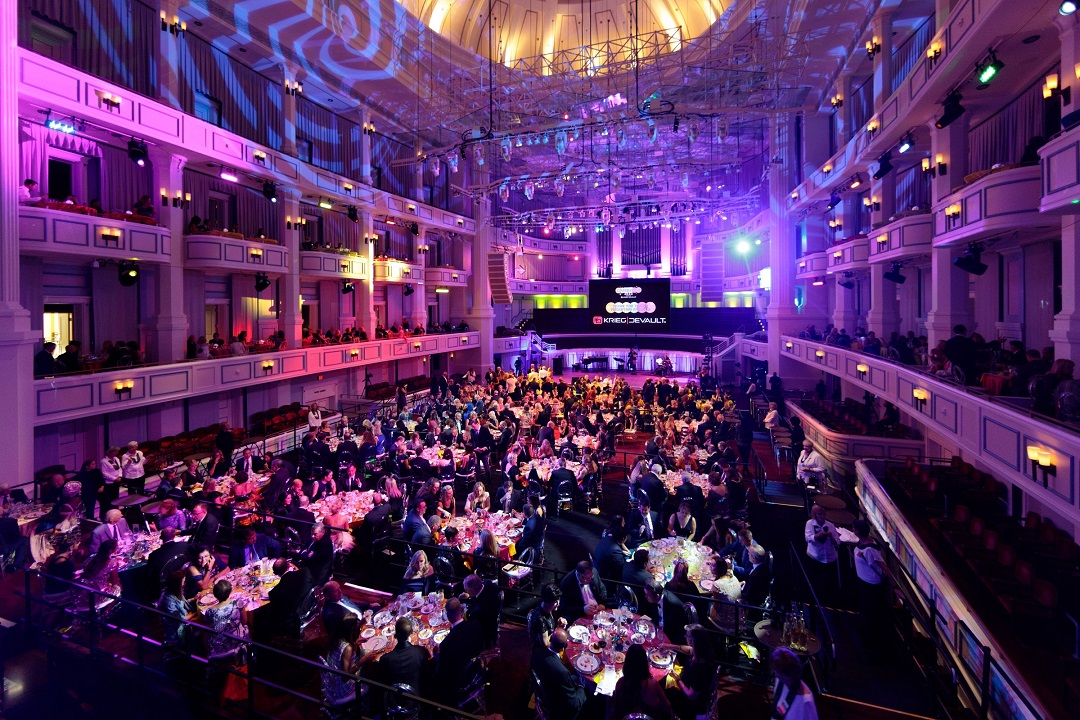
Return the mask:
<svg viewBox="0 0 1080 720">
<path fill-rule="evenodd" d="M 19 303 L 18 3 L 0 2 L 0 435 L 4 475 L 33 476 L 33 352 L 30 313 Z"/>
</svg>

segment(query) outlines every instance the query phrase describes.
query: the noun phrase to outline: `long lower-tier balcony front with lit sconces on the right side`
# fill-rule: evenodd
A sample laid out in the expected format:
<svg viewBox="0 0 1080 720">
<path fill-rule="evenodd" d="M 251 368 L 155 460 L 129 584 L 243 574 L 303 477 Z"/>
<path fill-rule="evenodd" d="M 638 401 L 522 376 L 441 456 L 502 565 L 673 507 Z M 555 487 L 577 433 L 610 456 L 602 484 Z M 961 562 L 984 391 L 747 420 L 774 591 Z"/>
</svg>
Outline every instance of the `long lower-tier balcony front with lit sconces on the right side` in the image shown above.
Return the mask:
<svg viewBox="0 0 1080 720">
<path fill-rule="evenodd" d="M 977 458 L 997 479 L 1021 488 L 1042 507 L 1068 518 L 1072 527 L 1065 529 L 1080 538 L 1080 444 L 1076 431 L 1032 419 L 1015 405 L 970 393 L 914 366 L 793 336 L 781 338 L 780 351 L 785 359 L 839 376 L 890 400 L 907 415 L 905 423 L 922 425 L 927 433 L 970 456 L 972 462 Z M 860 365 L 866 372 L 859 371 Z M 1053 456 L 1057 475 L 1050 476 L 1045 486 L 1041 477 L 1032 475 L 1027 447 L 1043 448 Z"/>
</svg>

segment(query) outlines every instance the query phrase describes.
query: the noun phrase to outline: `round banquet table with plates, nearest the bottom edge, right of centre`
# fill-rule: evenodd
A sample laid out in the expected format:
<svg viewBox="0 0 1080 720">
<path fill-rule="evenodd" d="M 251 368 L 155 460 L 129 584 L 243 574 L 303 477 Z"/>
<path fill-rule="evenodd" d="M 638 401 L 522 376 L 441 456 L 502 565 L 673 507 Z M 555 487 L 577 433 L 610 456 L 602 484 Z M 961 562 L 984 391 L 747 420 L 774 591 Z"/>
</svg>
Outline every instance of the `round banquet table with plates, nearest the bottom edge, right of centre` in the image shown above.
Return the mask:
<svg viewBox="0 0 1080 720">
<path fill-rule="evenodd" d="M 593 617 L 581 617 L 567 628 L 570 643 L 566 661 L 582 676 L 596 684 L 597 695 L 611 695 L 622 677 L 625 651 L 632 643 L 645 646 L 649 654 L 649 673 L 662 681 L 675 666 L 675 653 L 660 650 L 667 637 L 648 617 L 621 608 L 600 611 Z M 599 642 L 608 647 L 600 648 Z"/>
</svg>

